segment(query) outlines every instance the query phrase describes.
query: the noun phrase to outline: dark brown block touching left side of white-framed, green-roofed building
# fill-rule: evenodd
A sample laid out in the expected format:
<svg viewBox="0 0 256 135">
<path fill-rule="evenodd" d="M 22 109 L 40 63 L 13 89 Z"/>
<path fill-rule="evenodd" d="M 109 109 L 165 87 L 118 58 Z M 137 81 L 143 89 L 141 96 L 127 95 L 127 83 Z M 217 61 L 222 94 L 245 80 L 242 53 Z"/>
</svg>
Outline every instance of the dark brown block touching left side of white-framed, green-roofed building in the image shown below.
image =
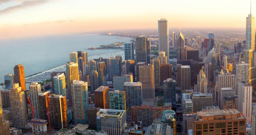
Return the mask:
<svg viewBox="0 0 256 135">
<path fill-rule="evenodd" d="M 88 124 L 89 124 L 89 128 L 93 129 L 93 130 L 97 130 L 97 112 L 100 110 L 101 108 L 90 108 L 88 109 Z"/>
</svg>

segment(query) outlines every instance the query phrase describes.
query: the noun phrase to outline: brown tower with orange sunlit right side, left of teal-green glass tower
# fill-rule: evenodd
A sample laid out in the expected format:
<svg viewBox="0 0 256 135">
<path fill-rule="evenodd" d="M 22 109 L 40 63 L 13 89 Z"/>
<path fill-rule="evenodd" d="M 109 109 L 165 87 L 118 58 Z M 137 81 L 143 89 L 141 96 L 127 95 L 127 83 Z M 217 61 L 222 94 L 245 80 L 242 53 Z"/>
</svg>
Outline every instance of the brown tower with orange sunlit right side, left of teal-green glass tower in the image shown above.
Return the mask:
<svg viewBox="0 0 256 135">
<path fill-rule="evenodd" d="M 102 109 L 109 109 L 109 88 L 107 86 L 100 86 L 94 90 L 95 107 Z"/>
</svg>

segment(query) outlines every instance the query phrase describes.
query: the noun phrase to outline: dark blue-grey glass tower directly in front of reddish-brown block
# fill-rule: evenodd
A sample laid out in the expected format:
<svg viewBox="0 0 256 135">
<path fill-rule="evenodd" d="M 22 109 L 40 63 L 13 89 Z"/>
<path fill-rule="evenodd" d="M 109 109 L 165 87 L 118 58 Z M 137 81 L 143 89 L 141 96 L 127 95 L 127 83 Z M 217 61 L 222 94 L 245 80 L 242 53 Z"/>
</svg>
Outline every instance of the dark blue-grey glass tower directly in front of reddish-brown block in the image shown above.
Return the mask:
<svg viewBox="0 0 256 135">
<path fill-rule="evenodd" d="M 171 102 L 176 101 L 176 81 L 168 78 L 163 81 L 163 97 L 164 99 L 171 99 Z"/>
</svg>

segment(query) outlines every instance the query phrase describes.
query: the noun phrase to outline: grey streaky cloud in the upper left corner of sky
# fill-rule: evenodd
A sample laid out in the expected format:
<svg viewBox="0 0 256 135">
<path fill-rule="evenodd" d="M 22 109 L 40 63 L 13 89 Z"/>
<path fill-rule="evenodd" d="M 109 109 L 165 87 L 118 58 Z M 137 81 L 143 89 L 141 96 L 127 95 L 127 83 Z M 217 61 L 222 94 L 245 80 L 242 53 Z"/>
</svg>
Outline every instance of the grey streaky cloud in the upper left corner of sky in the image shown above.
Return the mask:
<svg viewBox="0 0 256 135">
<path fill-rule="evenodd" d="M 9 2 L 9 1 L 12 1 L 12 0 L 0 0 L 0 4 L 5 3 L 5 2 Z M 9 6 L 5 9 L 0 10 L 0 15 L 2 15 L 4 13 L 8 13 L 8 12 L 13 12 L 13 11 L 18 10 L 18 9 L 24 9 L 24 8 L 32 7 L 32 6 L 35 6 L 35 5 L 40 5 L 40 4 L 46 3 L 47 1 L 48 0 L 27 0 L 27 1 L 23 1 L 19 5 Z"/>
</svg>

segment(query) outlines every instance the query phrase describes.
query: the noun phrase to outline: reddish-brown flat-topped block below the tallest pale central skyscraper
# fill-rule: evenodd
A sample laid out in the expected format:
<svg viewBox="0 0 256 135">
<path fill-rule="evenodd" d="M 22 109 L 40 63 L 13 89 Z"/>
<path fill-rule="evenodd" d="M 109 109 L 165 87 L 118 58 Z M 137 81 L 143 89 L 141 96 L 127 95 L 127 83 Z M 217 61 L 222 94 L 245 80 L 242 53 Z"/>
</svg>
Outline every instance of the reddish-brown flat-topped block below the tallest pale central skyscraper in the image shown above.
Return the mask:
<svg viewBox="0 0 256 135">
<path fill-rule="evenodd" d="M 163 81 L 172 78 L 172 65 L 169 63 L 160 64 L 160 84 L 163 84 Z"/>
</svg>

